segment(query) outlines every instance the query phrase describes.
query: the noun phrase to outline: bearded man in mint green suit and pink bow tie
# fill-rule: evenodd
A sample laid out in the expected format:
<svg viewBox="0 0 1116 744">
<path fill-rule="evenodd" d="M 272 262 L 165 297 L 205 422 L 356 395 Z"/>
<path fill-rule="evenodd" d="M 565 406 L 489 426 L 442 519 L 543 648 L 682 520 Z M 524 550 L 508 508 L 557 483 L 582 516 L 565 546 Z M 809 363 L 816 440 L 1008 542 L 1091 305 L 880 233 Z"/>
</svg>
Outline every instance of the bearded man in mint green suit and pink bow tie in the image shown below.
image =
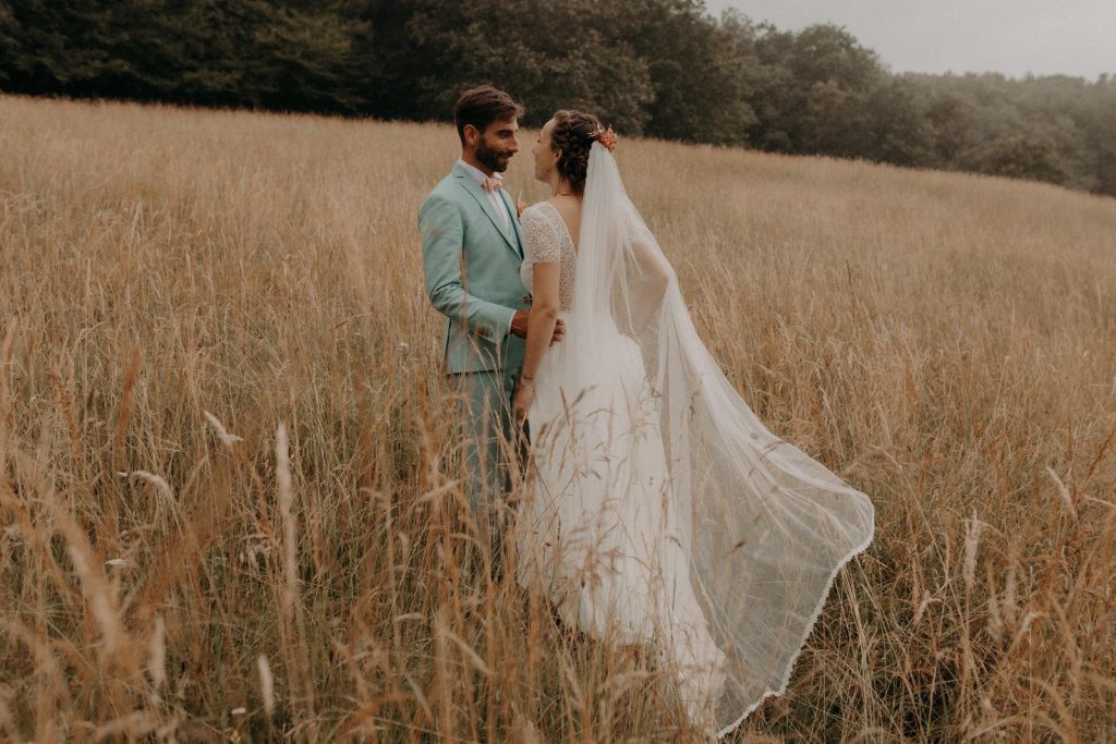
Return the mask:
<svg viewBox="0 0 1116 744">
<path fill-rule="evenodd" d="M 522 113 L 492 86 L 461 94 L 453 108 L 461 158 L 419 210 L 426 293 L 446 318 L 442 364 L 465 419 L 465 493 L 493 551 L 510 487 L 506 453 L 519 439 L 511 399 L 530 312 L 519 219 L 501 175 L 519 152 Z M 551 342 L 562 332 L 556 328 Z"/>
</svg>

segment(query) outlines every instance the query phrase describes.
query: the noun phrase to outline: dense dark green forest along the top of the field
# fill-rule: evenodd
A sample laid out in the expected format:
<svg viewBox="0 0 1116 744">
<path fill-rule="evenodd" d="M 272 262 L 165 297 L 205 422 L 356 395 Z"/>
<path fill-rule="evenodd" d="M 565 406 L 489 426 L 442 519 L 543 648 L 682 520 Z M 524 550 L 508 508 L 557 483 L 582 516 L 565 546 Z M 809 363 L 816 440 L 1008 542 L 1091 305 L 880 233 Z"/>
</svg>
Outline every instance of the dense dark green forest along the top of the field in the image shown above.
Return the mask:
<svg viewBox="0 0 1116 744">
<path fill-rule="evenodd" d="M 894 75 L 845 29 L 700 0 L 0 0 L 0 90 L 446 119 L 493 83 L 538 125 L 1036 178 L 1116 195 L 1116 77 Z"/>
</svg>

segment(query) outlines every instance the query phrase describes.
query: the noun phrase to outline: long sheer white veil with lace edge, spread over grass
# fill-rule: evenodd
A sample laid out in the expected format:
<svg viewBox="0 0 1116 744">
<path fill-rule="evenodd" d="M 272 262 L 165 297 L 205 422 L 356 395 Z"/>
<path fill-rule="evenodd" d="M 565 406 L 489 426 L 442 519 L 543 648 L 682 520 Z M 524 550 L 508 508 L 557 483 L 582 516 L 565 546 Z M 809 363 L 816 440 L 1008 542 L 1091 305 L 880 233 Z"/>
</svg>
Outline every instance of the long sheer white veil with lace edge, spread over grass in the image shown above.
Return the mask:
<svg viewBox="0 0 1116 744">
<path fill-rule="evenodd" d="M 638 345 L 657 404 L 690 581 L 724 654 L 712 709 L 725 733 L 786 689 L 835 574 L 872 540 L 873 505 L 769 432 L 732 387 L 616 161 L 594 143 L 567 320 L 581 379 L 599 378 L 617 330 Z"/>
</svg>

